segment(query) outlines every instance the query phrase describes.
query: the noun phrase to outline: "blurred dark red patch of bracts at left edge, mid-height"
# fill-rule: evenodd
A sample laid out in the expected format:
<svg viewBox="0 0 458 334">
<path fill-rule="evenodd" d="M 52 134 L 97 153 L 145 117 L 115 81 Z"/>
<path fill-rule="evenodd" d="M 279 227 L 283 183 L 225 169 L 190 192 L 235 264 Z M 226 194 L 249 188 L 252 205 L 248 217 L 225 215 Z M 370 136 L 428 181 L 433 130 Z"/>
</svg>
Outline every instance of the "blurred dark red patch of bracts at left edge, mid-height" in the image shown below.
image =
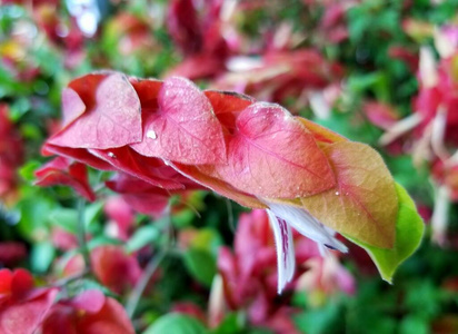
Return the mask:
<svg viewBox="0 0 458 334">
<path fill-rule="evenodd" d="M 8 106 L 0 104 L 0 198 L 14 197 L 17 169 L 22 164 L 22 139 L 8 118 Z"/>
</svg>

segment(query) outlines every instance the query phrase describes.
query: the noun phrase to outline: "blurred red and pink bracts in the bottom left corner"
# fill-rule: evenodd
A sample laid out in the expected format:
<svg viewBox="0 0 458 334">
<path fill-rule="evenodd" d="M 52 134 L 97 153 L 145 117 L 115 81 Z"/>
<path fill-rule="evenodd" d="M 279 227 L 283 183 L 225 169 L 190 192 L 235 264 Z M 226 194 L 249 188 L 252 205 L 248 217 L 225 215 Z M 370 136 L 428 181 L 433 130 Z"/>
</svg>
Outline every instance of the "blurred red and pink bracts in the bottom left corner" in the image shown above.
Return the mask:
<svg viewBox="0 0 458 334">
<path fill-rule="evenodd" d="M 37 288 L 26 269 L 0 269 L 0 332 L 37 333 L 57 295 L 56 288 Z"/>
</svg>

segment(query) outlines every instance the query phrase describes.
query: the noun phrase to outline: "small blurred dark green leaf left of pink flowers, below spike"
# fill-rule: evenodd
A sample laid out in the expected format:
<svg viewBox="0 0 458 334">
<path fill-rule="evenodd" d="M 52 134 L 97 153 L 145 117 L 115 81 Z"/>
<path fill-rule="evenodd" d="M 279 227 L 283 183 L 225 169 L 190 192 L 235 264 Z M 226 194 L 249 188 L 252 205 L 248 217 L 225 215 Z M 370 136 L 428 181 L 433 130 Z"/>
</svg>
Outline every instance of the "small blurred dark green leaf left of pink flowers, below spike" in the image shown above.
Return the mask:
<svg viewBox="0 0 458 334">
<path fill-rule="evenodd" d="M 209 252 L 190 248 L 185 253 L 183 261 L 192 277 L 205 286 L 211 286 L 213 276 L 217 273 L 217 265 Z"/>
</svg>

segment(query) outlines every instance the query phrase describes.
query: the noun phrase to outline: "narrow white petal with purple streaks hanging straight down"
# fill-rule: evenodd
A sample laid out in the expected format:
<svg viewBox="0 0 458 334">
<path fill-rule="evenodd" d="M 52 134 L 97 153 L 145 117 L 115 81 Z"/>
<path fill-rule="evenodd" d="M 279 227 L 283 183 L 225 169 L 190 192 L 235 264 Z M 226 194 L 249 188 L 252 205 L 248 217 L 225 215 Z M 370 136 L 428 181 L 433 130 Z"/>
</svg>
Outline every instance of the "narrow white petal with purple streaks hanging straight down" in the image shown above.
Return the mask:
<svg viewBox="0 0 458 334">
<path fill-rule="evenodd" d="M 277 247 L 278 293 L 281 294 L 295 274 L 296 259 L 292 232 L 291 227 L 285 220 L 277 219 L 270 210 L 267 210 L 267 215 L 269 216 L 270 226 L 273 229 Z"/>
</svg>

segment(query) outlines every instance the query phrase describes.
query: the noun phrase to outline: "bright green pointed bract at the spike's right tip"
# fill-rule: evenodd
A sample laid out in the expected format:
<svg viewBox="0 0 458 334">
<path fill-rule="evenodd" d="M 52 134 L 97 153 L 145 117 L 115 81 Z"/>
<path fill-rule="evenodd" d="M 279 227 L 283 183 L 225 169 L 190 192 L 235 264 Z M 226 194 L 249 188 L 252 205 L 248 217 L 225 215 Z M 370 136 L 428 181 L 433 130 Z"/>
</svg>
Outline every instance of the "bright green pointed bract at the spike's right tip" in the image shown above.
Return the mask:
<svg viewBox="0 0 458 334">
<path fill-rule="evenodd" d="M 396 222 L 395 247 L 391 249 L 378 248 L 345 236 L 366 249 L 381 277 L 388 283 L 391 283 L 397 267 L 418 248 L 425 230 L 422 219 L 409 194 L 399 184 L 396 184 L 396 191 L 399 199 L 399 210 Z"/>
</svg>

